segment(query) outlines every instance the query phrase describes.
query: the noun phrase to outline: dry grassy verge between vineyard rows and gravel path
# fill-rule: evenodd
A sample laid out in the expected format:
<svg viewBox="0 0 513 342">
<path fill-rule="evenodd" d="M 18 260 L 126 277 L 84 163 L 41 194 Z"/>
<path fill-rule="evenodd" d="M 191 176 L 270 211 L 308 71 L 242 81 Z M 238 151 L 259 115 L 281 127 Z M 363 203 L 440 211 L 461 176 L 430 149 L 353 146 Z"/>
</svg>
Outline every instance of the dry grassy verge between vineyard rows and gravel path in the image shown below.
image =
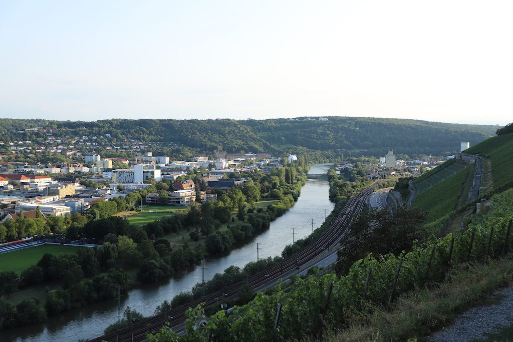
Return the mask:
<svg viewBox="0 0 513 342">
<path fill-rule="evenodd" d="M 513 260 L 490 260 L 489 264 L 461 264 L 451 270 L 438 288 L 411 291 L 400 296 L 390 312 L 369 307 L 370 314 L 353 317 L 351 326 L 328 333 L 330 341 L 424 340 L 464 310 L 486 302 L 494 290 L 512 280 Z"/>
</svg>

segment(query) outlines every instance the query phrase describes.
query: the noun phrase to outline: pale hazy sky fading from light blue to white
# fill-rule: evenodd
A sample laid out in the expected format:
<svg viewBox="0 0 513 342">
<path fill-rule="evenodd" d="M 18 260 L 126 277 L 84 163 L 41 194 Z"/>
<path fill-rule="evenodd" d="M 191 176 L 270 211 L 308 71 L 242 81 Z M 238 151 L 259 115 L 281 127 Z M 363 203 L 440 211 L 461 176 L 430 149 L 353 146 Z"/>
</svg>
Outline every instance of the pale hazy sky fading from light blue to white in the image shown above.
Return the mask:
<svg viewBox="0 0 513 342">
<path fill-rule="evenodd" d="M 0 0 L 0 117 L 505 125 L 512 9 L 469 0 Z"/>
</svg>

